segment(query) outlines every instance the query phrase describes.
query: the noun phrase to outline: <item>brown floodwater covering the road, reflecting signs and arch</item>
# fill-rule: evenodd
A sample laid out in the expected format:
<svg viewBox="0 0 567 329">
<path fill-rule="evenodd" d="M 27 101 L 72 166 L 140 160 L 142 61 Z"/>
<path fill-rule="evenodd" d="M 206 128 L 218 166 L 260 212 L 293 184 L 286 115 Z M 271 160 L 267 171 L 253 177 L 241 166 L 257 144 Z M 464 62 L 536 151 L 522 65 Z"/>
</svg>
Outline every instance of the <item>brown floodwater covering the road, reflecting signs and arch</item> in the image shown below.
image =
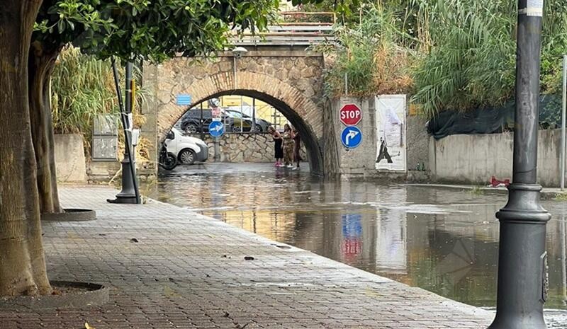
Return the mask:
<svg viewBox="0 0 567 329">
<path fill-rule="evenodd" d="M 180 166 L 158 198 L 466 304 L 495 306 L 506 195 L 362 181 L 325 182 L 266 164 Z M 546 201 L 549 298 L 567 328 L 567 202 Z M 563 310 L 563 311 L 561 311 Z M 563 322 L 564 321 L 564 322 Z"/>
</svg>

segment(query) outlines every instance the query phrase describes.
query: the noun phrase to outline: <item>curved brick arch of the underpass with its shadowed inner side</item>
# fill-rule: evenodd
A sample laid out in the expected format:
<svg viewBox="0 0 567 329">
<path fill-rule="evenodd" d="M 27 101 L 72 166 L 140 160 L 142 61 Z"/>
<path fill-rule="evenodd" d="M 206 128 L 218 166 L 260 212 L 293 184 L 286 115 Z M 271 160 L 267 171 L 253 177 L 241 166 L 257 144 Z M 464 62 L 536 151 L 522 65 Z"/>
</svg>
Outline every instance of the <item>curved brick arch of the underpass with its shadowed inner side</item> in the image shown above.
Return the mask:
<svg viewBox="0 0 567 329">
<path fill-rule="evenodd" d="M 174 103 L 174 99 L 171 99 L 159 109 L 157 115 L 159 140 L 164 138 L 169 129 L 189 108 L 205 100 L 225 95 L 249 96 L 274 106 L 298 129 L 308 152 L 311 172 L 323 174 L 320 146 L 323 134 L 323 115 L 320 105 L 303 96 L 301 91 L 286 81 L 266 74 L 239 71 L 236 87 L 233 75 L 228 72 L 196 80 L 189 86 L 176 86 L 176 91 L 189 94 L 193 103 L 189 106 L 179 106 Z"/>
</svg>

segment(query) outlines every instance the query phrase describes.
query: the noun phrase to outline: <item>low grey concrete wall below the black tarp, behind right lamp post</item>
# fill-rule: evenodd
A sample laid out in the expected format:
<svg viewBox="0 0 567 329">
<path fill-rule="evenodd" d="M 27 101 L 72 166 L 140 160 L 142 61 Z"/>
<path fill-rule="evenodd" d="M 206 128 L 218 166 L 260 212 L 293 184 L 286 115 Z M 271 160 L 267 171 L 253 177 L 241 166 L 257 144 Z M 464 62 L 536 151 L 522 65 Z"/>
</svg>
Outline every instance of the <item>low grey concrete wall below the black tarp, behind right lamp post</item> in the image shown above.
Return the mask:
<svg viewBox="0 0 567 329">
<path fill-rule="evenodd" d="M 561 130 L 540 130 L 538 180 L 547 187 L 559 186 Z M 490 176 L 512 178 L 514 134 L 451 135 L 430 137 L 430 168 L 434 179 L 488 184 Z"/>
</svg>

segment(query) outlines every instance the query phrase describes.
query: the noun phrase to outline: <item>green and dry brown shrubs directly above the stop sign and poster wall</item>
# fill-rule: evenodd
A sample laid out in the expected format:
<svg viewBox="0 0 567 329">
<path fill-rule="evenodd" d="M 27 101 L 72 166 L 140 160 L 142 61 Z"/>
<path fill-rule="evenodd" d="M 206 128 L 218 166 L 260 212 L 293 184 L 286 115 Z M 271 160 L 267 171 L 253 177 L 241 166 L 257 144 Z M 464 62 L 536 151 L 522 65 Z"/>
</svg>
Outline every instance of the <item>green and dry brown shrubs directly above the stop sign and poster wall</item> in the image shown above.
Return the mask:
<svg viewBox="0 0 567 329">
<path fill-rule="evenodd" d="M 395 27 L 397 17 L 383 6 L 366 6 L 360 23 L 339 25 L 337 42 L 315 47 L 332 62 L 325 72 L 325 93 L 335 98 L 345 93 L 368 96 L 405 93 L 412 86 L 412 50 Z"/>
</svg>

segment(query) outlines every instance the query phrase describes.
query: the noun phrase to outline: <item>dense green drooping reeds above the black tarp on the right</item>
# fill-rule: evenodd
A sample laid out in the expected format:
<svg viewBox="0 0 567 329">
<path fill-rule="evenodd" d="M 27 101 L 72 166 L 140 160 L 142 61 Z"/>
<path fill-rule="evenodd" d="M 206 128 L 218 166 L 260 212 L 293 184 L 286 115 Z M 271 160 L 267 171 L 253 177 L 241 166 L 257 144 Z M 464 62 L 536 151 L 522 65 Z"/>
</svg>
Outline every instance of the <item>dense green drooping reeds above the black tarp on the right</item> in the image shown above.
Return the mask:
<svg viewBox="0 0 567 329">
<path fill-rule="evenodd" d="M 440 110 L 498 106 L 515 88 L 515 1 L 416 1 L 429 47 L 415 66 L 415 95 L 426 117 Z M 541 92 L 560 87 L 561 54 L 567 53 L 567 9 L 546 1 Z"/>
</svg>

